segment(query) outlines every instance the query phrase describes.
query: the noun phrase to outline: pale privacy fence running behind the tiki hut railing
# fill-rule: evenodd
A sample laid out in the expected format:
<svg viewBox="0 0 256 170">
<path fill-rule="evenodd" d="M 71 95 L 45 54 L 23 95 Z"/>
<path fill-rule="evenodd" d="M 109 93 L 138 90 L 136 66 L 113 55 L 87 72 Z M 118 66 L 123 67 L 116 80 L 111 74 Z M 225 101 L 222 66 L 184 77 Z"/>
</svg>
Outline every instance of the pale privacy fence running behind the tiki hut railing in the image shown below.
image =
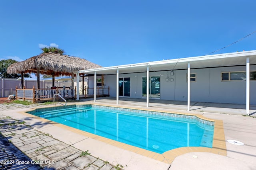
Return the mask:
<svg viewBox="0 0 256 170">
<path fill-rule="evenodd" d="M 32 89 L 33 86 L 36 87 L 36 80 L 24 80 L 24 86 L 26 89 Z M 57 87 L 70 87 L 71 82 L 54 82 L 54 85 Z M 15 94 L 15 88 L 21 89 L 20 80 L 10 80 L 10 79 L 0 79 L 0 97 L 8 97 L 9 95 Z M 40 88 L 51 88 L 51 81 L 40 81 Z"/>
</svg>

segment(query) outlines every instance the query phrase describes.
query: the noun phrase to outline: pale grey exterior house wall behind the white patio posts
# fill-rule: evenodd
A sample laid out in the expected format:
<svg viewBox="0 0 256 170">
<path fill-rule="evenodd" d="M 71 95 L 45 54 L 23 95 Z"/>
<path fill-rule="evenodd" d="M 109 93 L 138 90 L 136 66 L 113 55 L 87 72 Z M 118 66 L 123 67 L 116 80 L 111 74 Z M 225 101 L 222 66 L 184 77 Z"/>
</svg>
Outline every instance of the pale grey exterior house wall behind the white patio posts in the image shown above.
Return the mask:
<svg viewBox="0 0 256 170">
<path fill-rule="evenodd" d="M 256 66 L 250 66 L 256 70 Z M 246 71 L 246 66 L 190 69 L 196 73 L 196 82 L 190 82 L 191 102 L 217 102 L 246 104 L 246 81 L 221 81 L 221 72 Z M 119 78 L 130 77 L 130 97 L 142 98 L 142 77 L 145 72 L 119 74 Z M 187 70 L 174 70 L 173 82 L 166 82 L 167 71 L 150 72 L 149 76 L 160 76 L 160 100 L 187 101 Z M 99 77 L 100 78 L 100 77 Z M 92 80 L 91 80 L 92 79 Z M 90 77 L 90 87 L 94 86 L 94 77 Z M 116 75 L 105 75 L 104 84 L 110 86 L 110 96 L 116 97 Z M 256 105 L 256 80 L 250 80 L 250 104 Z"/>
</svg>

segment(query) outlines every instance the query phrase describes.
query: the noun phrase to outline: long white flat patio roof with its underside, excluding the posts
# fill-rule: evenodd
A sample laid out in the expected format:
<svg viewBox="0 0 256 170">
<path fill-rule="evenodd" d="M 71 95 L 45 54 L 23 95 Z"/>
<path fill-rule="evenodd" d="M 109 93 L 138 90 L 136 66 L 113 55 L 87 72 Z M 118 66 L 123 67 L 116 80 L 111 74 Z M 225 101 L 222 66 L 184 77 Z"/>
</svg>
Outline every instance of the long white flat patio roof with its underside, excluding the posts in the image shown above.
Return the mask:
<svg viewBox="0 0 256 170">
<path fill-rule="evenodd" d="M 120 66 L 110 66 L 95 68 L 89 70 L 80 70 L 79 73 L 84 74 L 116 74 L 116 70 L 119 70 L 119 74 L 133 73 L 133 72 L 146 72 L 147 66 L 150 71 L 163 71 L 163 70 L 181 70 L 187 69 L 188 63 L 190 63 L 190 69 L 193 68 L 209 68 L 209 67 L 221 67 L 221 66 L 241 66 L 246 65 L 246 57 L 250 57 L 250 65 L 256 64 L 256 50 L 243 51 L 236 53 L 226 53 L 218 55 L 207 55 L 200 57 L 189 57 L 172 60 L 154 61 L 147 63 L 126 64 Z"/>
</svg>

